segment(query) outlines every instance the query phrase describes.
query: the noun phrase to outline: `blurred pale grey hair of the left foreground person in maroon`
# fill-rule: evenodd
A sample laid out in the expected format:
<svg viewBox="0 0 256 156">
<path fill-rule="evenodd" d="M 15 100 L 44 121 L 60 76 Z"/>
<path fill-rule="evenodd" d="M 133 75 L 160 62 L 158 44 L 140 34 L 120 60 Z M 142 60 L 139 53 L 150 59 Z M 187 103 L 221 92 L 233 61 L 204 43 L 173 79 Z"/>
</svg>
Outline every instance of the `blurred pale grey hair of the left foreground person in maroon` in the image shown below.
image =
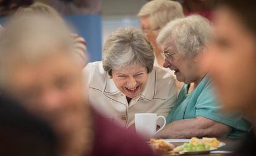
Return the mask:
<svg viewBox="0 0 256 156">
<path fill-rule="evenodd" d="M 70 30 L 64 23 L 41 14 L 15 15 L 0 35 L 0 85 L 8 80 L 8 67 L 17 62 L 35 64 L 56 53 L 72 57 Z M 75 58 L 75 56 L 74 56 Z"/>
</svg>

